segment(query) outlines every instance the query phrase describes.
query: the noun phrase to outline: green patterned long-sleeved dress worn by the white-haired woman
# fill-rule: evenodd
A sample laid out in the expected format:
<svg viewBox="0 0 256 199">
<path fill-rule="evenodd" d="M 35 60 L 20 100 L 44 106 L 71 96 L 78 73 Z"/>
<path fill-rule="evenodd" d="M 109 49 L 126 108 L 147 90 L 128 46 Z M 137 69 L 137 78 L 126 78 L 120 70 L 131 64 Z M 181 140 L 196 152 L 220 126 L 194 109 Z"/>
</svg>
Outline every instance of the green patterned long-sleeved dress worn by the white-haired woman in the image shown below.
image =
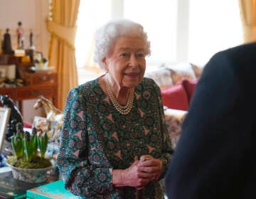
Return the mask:
<svg viewBox="0 0 256 199">
<path fill-rule="evenodd" d="M 81 198 L 136 198 L 136 188 L 114 187 L 110 168 L 128 168 L 140 156 L 162 161 L 161 178 L 171 160 L 161 92 L 144 77 L 134 90 L 129 114 L 119 114 L 98 79 L 68 93 L 60 136 L 58 168 L 65 188 Z M 148 183 L 144 198 L 164 198 L 159 181 Z"/>
</svg>

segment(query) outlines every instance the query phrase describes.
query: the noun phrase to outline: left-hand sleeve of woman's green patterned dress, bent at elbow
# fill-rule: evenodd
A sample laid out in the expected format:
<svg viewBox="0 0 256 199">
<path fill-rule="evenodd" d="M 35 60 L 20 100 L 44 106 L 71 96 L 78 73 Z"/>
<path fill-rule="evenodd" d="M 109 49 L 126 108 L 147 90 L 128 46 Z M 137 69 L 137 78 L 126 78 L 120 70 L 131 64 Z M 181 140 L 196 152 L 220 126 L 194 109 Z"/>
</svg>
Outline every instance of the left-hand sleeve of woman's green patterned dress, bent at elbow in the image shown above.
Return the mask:
<svg viewBox="0 0 256 199">
<path fill-rule="evenodd" d="M 92 197 L 111 192 L 113 186 L 110 168 L 92 165 L 88 160 L 90 141 L 85 102 L 77 88 L 68 93 L 57 164 L 67 190 L 75 195 Z"/>
</svg>

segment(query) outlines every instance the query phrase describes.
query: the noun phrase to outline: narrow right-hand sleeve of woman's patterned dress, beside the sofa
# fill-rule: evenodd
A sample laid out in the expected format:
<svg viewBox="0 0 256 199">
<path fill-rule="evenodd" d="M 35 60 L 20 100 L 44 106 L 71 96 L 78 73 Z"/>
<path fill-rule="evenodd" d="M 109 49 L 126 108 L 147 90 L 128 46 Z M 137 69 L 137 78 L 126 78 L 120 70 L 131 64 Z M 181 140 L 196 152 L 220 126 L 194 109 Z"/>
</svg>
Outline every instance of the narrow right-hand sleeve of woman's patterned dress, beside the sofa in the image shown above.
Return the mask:
<svg viewBox="0 0 256 199">
<path fill-rule="evenodd" d="M 169 163 L 171 161 L 172 154 L 174 152 L 173 147 L 171 146 L 171 138 L 167 132 L 166 124 L 164 122 L 164 106 L 163 102 L 161 99 L 161 90 L 157 86 L 156 87 L 156 92 L 158 98 L 158 106 L 159 106 L 159 122 L 160 122 L 160 127 L 161 127 L 161 134 L 162 134 L 162 153 L 160 160 L 162 162 L 162 170 L 161 170 L 161 175 L 159 179 L 164 178 L 166 171 L 168 169 Z"/>
</svg>

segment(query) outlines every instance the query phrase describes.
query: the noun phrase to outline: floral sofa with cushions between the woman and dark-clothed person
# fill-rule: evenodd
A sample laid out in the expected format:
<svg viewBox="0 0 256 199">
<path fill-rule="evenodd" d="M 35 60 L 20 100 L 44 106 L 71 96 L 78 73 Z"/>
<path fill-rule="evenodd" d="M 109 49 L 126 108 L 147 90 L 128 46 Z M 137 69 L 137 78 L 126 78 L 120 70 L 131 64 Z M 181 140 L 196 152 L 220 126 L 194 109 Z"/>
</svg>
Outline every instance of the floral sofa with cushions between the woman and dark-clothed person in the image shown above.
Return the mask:
<svg viewBox="0 0 256 199">
<path fill-rule="evenodd" d="M 174 149 L 202 71 L 202 67 L 191 63 L 161 65 L 146 70 L 145 77 L 151 77 L 161 89 L 165 124 Z"/>
</svg>

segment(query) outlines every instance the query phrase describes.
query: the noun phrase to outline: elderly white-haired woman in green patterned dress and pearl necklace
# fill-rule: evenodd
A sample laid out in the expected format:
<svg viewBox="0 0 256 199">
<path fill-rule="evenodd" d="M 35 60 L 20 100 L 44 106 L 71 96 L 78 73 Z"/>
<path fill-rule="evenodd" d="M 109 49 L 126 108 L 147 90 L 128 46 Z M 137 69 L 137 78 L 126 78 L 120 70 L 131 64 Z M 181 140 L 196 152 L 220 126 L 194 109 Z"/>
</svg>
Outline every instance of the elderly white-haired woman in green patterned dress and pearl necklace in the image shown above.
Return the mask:
<svg viewBox="0 0 256 199">
<path fill-rule="evenodd" d="M 144 77 L 150 43 L 141 25 L 110 21 L 96 33 L 106 71 L 70 90 L 58 167 L 82 198 L 164 198 L 159 181 L 172 154 L 161 92 Z"/>
</svg>

